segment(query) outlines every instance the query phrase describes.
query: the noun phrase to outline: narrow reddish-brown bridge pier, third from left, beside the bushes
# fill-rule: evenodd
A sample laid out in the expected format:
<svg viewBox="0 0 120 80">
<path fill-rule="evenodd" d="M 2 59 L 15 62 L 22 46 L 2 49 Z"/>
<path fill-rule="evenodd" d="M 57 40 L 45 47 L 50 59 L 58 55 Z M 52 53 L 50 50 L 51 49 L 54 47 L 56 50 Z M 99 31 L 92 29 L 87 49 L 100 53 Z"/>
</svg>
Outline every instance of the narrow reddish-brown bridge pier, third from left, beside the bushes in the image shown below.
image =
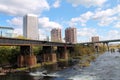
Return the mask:
<svg viewBox="0 0 120 80">
<path fill-rule="evenodd" d="M 66 47 L 57 47 L 58 58 L 68 60 L 68 51 Z"/>
</svg>

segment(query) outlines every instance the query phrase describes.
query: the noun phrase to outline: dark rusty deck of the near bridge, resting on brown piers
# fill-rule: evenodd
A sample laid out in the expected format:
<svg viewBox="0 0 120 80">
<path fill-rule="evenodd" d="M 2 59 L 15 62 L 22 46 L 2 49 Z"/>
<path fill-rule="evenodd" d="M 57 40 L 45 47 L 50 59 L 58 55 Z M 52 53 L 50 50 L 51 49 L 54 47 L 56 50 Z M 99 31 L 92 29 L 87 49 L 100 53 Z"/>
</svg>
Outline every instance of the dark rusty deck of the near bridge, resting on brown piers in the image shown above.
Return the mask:
<svg viewBox="0 0 120 80">
<path fill-rule="evenodd" d="M 71 44 L 60 43 L 60 42 L 0 37 L 0 46 L 21 46 L 21 45 L 72 46 Z"/>
</svg>

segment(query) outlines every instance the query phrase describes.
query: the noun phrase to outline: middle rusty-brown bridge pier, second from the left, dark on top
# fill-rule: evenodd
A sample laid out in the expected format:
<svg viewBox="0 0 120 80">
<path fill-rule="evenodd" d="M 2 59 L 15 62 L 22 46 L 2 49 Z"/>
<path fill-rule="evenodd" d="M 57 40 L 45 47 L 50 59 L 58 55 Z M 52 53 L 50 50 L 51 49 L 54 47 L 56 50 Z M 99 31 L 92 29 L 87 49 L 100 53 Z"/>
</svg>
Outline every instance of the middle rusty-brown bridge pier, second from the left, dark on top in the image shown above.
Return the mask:
<svg viewBox="0 0 120 80">
<path fill-rule="evenodd" d="M 44 62 L 49 62 L 49 61 L 57 62 L 55 47 L 43 46 L 43 61 Z"/>
</svg>

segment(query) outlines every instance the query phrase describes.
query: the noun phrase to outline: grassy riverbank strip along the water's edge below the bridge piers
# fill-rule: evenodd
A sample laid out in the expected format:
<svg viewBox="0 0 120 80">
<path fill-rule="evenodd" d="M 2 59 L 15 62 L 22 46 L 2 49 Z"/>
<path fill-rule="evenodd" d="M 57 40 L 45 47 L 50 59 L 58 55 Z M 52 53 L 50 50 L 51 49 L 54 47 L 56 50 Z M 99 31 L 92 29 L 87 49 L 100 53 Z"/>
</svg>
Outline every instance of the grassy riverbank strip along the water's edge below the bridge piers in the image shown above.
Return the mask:
<svg viewBox="0 0 120 80">
<path fill-rule="evenodd" d="M 100 54 L 99 54 L 100 55 Z M 70 58 L 69 60 L 65 60 L 65 59 L 60 59 L 58 60 L 57 63 L 52 63 L 52 62 L 43 62 L 43 63 L 38 63 L 34 66 L 30 66 L 30 67 L 21 67 L 21 68 L 8 68 L 8 69 L 2 69 L 0 70 L 0 75 L 6 75 L 7 73 L 15 73 L 15 72 L 29 72 L 32 69 L 36 69 L 36 68 L 47 68 L 49 70 L 49 67 L 53 66 L 53 69 L 56 67 L 56 70 L 62 70 L 64 68 L 73 66 L 73 65 L 79 65 L 80 68 L 83 67 L 88 67 L 90 66 L 90 63 L 92 61 L 95 61 L 95 59 L 98 57 L 98 54 L 96 56 L 96 54 L 93 55 L 84 55 L 84 56 L 77 56 L 76 58 Z M 56 67 L 55 67 L 56 66 Z"/>
</svg>

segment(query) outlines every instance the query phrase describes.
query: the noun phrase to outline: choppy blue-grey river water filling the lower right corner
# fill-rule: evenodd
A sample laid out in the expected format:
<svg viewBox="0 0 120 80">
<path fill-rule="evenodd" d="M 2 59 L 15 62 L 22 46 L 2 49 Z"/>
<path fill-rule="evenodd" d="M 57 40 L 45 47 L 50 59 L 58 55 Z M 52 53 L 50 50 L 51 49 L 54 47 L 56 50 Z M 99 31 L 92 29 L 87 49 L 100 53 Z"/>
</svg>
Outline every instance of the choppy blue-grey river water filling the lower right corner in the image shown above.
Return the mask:
<svg viewBox="0 0 120 80">
<path fill-rule="evenodd" d="M 120 53 L 105 52 L 95 62 L 91 62 L 89 67 L 80 69 L 74 66 L 57 74 L 63 80 L 120 80 Z"/>
</svg>

